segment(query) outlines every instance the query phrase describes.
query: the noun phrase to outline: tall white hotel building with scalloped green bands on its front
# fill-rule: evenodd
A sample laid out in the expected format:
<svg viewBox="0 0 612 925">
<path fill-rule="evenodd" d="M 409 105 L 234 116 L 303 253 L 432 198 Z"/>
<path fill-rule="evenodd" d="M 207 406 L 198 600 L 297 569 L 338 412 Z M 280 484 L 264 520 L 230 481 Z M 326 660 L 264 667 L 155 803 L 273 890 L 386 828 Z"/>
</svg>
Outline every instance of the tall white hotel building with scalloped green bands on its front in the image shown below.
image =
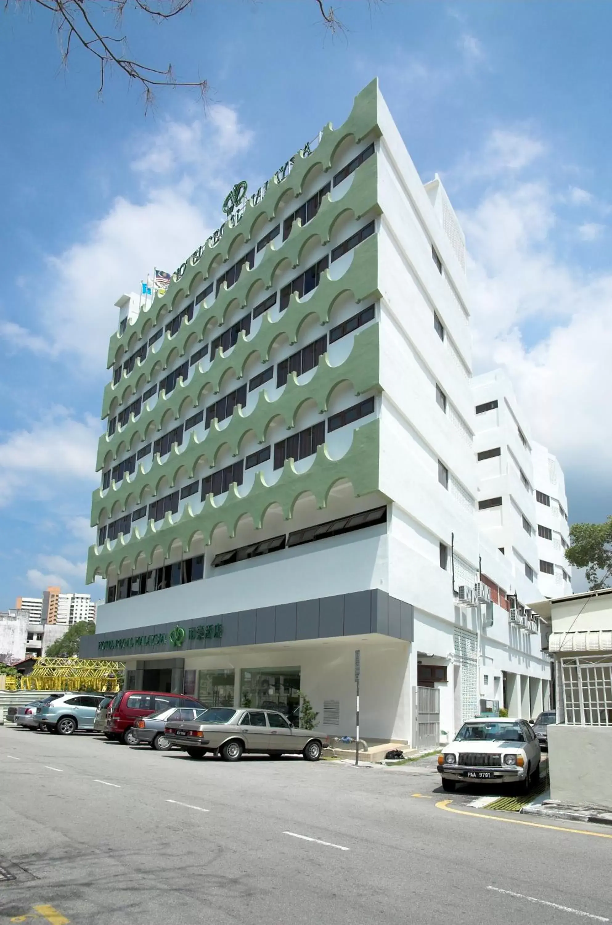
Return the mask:
<svg viewBox="0 0 612 925">
<path fill-rule="evenodd" d="M 472 380 L 442 183 L 373 81 L 245 188 L 165 294 L 117 302 L 88 559 L 106 603 L 81 653 L 208 704 L 295 716 L 304 691 L 332 735 L 354 729 L 356 649 L 368 739 L 531 716 L 531 438 L 500 378 Z"/>
</svg>

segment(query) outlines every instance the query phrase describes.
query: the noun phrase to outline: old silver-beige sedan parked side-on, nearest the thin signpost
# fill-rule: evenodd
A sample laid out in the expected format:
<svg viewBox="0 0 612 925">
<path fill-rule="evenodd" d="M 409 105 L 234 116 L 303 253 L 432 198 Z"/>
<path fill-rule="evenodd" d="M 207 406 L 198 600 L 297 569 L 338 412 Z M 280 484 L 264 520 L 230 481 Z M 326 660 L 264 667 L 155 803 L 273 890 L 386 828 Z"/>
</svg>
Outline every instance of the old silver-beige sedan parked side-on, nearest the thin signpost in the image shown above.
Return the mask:
<svg viewBox="0 0 612 925">
<path fill-rule="evenodd" d="M 214 752 L 224 761 L 239 761 L 244 752 L 271 758 L 301 754 L 307 761 L 318 761 L 329 746 L 328 736 L 296 729 L 282 713 L 232 707 L 211 707 L 192 722 L 170 720 L 165 737 L 191 758 Z"/>
</svg>

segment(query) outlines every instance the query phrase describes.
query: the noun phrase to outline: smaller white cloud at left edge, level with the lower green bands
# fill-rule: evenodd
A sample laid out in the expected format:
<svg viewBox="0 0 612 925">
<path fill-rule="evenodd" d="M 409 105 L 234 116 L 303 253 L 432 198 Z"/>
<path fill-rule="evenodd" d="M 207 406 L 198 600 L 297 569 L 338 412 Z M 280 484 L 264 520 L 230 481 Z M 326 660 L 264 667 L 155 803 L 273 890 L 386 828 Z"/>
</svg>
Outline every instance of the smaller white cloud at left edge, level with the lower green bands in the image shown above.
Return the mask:
<svg viewBox="0 0 612 925">
<path fill-rule="evenodd" d="M 0 442 L 0 507 L 15 496 L 48 497 L 75 480 L 93 483 L 99 434 L 91 415 L 76 420 L 63 408 L 13 431 Z"/>
</svg>

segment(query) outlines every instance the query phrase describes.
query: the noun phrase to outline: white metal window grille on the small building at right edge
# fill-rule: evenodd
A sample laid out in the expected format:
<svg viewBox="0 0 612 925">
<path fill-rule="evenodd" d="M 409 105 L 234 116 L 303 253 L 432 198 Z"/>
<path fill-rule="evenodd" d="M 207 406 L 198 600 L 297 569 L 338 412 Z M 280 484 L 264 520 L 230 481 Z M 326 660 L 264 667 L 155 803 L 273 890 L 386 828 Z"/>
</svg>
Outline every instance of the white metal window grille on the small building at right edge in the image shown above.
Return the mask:
<svg viewBox="0 0 612 925">
<path fill-rule="evenodd" d="M 571 726 L 612 726 L 612 660 L 561 659 L 565 722 Z"/>
</svg>

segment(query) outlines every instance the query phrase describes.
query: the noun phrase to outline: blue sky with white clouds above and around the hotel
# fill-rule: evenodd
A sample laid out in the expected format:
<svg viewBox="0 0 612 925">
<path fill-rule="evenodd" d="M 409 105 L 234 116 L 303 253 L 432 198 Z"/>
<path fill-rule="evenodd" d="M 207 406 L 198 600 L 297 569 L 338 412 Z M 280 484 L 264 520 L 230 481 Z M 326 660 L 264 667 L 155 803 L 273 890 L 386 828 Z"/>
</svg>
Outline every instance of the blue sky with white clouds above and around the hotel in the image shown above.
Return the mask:
<svg viewBox="0 0 612 925">
<path fill-rule="evenodd" d="M 508 368 L 571 519 L 612 511 L 606 0 L 345 0 L 336 38 L 314 0 L 195 0 L 161 26 L 132 13 L 134 57 L 210 83 L 205 112 L 162 90 L 147 116 L 118 73 L 98 100 L 83 52 L 60 68 L 46 12 L 18 6 L 0 32 L 0 609 L 83 588 L 116 298 L 172 271 L 237 179 L 258 186 L 374 76 L 466 231 L 475 368 Z"/>
</svg>

